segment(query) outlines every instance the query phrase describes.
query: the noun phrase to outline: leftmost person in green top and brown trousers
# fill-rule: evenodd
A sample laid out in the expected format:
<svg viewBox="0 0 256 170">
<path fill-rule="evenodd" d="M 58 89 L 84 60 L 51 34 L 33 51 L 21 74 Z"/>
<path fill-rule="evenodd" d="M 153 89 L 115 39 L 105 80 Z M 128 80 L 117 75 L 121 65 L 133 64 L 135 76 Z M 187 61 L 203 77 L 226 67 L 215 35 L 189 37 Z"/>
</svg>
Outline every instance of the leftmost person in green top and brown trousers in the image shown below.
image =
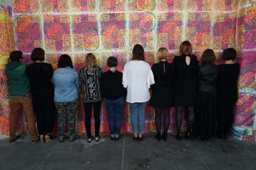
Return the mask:
<svg viewBox="0 0 256 170">
<path fill-rule="evenodd" d="M 33 110 L 33 100 L 30 94 L 29 79 L 26 76 L 27 64 L 23 64 L 23 54 L 21 51 L 12 51 L 10 54 L 10 62 L 6 65 L 6 76 L 9 87 L 9 130 L 10 130 L 10 142 L 14 142 L 19 139 L 19 136 L 15 134 L 16 123 L 19 118 L 22 108 L 24 108 L 27 116 L 28 127 L 32 142 L 39 141 L 35 127 L 35 117 Z"/>
</svg>

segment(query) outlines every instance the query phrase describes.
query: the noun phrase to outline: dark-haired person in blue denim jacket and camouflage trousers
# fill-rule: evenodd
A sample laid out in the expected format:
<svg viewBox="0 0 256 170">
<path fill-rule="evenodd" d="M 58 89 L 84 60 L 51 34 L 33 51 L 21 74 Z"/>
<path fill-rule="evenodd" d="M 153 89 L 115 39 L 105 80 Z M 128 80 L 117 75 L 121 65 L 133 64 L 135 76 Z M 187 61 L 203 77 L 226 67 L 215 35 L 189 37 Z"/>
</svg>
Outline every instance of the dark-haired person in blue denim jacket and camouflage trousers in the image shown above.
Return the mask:
<svg viewBox="0 0 256 170">
<path fill-rule="evenodd" d="M 79 139 L 76 135 L 76 114 L 79 97 L 79 76 L 73 69 L 69 55 L 61 55 L 58 69 L 53 74 L 54 101 L 58 110 L 59 142 L 64 141 L 66 120 L 69 124 L 69 141 Z"/>
</svg>

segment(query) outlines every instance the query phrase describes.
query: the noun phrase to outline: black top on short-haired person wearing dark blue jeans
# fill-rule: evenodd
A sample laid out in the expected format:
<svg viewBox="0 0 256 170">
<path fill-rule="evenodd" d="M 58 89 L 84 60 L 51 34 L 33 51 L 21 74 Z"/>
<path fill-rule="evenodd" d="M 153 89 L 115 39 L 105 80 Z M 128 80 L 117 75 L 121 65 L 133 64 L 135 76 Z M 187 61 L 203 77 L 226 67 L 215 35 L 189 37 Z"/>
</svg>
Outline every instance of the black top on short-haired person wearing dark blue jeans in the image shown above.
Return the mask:
<svg viewBox="0 0 256 170">
<path fill-rule="evenodd" d="M 102 75 L 102 96 L 109 100 L 116 100 L 126 95 L 126 88 L 122 84 L 123 73 L 110 70 Z"/>
</svg>

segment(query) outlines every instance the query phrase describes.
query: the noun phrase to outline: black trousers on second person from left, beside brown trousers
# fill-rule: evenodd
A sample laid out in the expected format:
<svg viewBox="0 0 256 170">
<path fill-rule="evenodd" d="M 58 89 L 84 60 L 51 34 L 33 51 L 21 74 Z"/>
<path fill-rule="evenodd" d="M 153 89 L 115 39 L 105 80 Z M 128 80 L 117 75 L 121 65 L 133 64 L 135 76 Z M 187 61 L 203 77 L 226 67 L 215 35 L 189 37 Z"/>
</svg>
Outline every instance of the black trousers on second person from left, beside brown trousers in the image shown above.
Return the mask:
<svg viewBox="0 0 256 170">
<path fill-rule="evenodd" d="M 53 90 L 32 92 L 36 125 L 39 135 L 47 135 L 54 126 L 54 92 Z"/>
</svg>

